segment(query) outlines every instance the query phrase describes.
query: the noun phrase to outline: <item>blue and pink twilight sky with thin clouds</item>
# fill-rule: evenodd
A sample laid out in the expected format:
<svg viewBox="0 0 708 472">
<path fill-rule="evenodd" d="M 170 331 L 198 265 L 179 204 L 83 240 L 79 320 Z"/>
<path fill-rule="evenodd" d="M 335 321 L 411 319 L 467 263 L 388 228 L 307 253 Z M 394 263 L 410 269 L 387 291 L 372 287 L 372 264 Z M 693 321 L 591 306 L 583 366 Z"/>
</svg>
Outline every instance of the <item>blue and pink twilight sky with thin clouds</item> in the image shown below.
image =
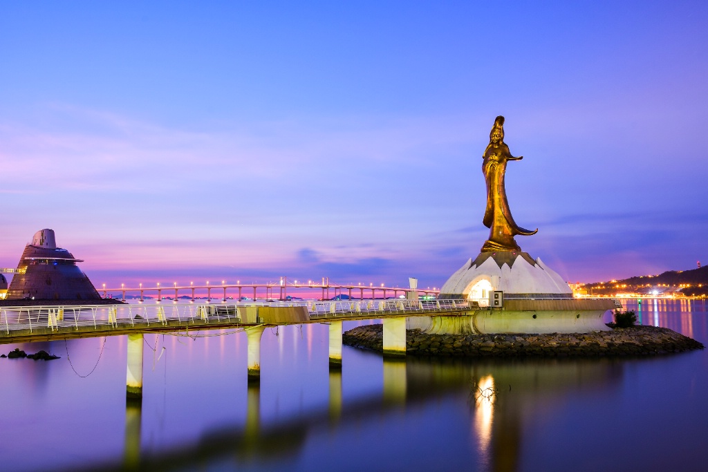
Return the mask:
<svg viewBox="0 0 708 472">
<path fill-rule="evenodd" d="M 569 281 L 708 263 L 708 2 L 0 1 L 0 267 L 98 287 L 440 287 L 489 236 Z"/>
</svg>

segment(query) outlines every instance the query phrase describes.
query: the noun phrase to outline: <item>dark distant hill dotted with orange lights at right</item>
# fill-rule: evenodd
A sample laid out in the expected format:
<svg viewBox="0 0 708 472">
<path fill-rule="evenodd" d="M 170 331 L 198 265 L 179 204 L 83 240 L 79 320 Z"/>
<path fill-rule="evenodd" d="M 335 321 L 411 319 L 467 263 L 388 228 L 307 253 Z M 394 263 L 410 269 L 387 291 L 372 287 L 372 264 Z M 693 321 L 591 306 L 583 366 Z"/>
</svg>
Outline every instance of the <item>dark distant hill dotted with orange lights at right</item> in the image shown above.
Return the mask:
<svg viewBox="0 0 708 472">
<path fill-rule="evenodd" d="M 708 265 L 691 270 L 667 270 L 659 275 L 637 275 L 623 280 L 595 282 L 585 286 L 588 291 L 598 295 L 613 294 L 618 288 L 622 292 L 648 293 L 657 287 L 662 290 L 680 290 L 682 294 L 691 297 L 708 295 Z"/>
</svg>

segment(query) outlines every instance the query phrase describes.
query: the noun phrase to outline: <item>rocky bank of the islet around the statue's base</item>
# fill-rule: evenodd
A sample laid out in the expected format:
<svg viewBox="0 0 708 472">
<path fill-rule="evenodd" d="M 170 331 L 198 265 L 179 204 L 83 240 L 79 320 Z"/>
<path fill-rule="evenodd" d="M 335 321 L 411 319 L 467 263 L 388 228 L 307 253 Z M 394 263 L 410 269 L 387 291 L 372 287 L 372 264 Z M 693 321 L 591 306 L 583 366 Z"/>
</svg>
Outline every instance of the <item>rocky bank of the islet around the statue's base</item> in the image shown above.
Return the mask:
<svg viewBox="0 0 708 472">
<path fill-rule="evenodd" d="M 348 346 L 382 352 L 383 326 L 358 326 L 342 336 Z M 668 328 L 634 326 L 583 334 L 426 334 L 406 331 L 406 353 L 443 357 L 566 357 L 657 355 L 703 349 L 704 345 Z"/>
</svg>

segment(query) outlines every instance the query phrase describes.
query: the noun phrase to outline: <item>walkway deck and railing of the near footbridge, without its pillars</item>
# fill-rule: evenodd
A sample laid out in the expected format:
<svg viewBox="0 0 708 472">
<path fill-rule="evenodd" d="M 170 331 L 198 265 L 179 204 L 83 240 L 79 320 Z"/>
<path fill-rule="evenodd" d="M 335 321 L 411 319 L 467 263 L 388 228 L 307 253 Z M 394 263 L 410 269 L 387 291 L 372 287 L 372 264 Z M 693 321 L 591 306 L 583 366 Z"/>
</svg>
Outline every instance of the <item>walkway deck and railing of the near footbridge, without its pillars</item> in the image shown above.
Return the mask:
<svg viewBox="0 0 708 472">
<path fill-rule="evenodd" d="M 119 304 L 0 307 L 0 344 L 132 333 L 248 328 L 469 311 L 462 300 L 356 300 Z M 278 309 L 299 309 L 304 316 L 283 320 L 269 316 Z M 265 313 L 259 316 L 259 313 Z M 304 314 L 307 313 L 307 314 Z M 286 317 L 287 318 L 287 317 Z"/>
</svg>

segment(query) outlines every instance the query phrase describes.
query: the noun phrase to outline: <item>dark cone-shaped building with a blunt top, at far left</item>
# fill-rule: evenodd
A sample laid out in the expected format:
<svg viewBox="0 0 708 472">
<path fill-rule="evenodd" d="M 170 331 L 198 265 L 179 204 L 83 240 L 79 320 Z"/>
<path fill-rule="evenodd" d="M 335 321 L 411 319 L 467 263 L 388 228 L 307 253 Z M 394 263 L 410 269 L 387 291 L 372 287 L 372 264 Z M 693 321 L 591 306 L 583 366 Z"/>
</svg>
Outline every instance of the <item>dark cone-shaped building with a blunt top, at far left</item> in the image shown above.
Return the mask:
<svg viewBox="0 0 708 472">
<path fill-rule="evenodd" d="M 54 230 L 40 229 L 25 246 L 16 274 L 10 282 L 8 300 L 100 300 L 89 277 L 81 272 L 66 249 L 57 248 Z"/>
</svg>

